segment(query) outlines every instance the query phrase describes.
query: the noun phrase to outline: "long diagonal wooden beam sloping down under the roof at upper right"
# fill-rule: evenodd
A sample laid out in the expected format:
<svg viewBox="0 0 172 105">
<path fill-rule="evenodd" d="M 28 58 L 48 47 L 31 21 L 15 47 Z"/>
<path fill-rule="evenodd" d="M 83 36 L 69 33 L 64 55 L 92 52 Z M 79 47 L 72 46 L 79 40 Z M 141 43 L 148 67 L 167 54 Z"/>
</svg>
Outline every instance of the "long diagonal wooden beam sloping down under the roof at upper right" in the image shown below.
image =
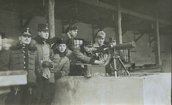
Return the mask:
<svg viewBox="0 0 172 105">
<path fill-rule="evenodd" d="M 77 0 L 77 1 L 88 4 L 88 5 L 92 5 L 92 6 L 105 8 L 105 9 L 112 10 L 112 11 L 118 11 L 117 7 L 109 5 L 109 4 L 102 3 L 100 1 L 99 2 L 95 2 L 95 0 Z M 152 17 L 152 16 L 141 14 L 141 13 L 129 10 L 129 9 L 121 8 L 121 12 L 125 13 L 125 14 L 129 14 L 131 16 L 139 17 L 139 18 L 142 18 L 142 19 L 145 19 L 145 20 L 155 21 L 155 18 Z M 171 22 L 166 21 L 166 20 L 162 20 L 162 19 L 159 19 L 159 23 L 165 24 L 165 25 L 172 25 Z"/>
</svg>

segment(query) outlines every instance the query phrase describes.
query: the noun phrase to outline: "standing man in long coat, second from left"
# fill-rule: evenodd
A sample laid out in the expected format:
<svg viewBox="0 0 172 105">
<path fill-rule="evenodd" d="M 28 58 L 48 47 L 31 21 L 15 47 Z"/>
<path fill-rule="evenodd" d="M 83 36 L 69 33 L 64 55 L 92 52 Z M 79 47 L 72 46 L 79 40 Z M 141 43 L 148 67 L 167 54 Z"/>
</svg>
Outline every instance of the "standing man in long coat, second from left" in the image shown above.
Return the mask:
<svg viewBox="0 0 172 105">
<path fill-rule="evenodd" d="M 51 49 L 48 44 L 49 29 L 47 24 L 38 25 L 38 35 L 35 37 L 38 49 L 39 78 L 38 78 L 38 104 L 50 105 L 54 93 L 54 81 L 51 73 L 53 67 L 50 60 Z"/>
</svg>

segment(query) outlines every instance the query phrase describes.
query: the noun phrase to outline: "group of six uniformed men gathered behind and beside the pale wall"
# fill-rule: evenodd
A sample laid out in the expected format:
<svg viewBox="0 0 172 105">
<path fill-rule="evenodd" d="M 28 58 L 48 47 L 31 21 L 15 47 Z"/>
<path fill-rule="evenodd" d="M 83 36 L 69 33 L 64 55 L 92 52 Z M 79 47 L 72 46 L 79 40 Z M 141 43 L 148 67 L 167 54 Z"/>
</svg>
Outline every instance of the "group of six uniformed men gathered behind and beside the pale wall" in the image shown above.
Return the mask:
<svg viewBox="0 0 172 105">
<path fill-rule="evenodd" d="M 6 105 L 50 105 L 55 93 L 55 81 L 63 76 L 81 76 L 82 65 L 104 65 L 108 68 L 111 54 L 105 44 L 106 33 L 95 35 L 94 42 L 78 38 L 78 26 L 69 25 L 66 33 L 50 39 L 47 24 L 38 24 L 33 38 L 29 28 L 19 36 L 9 50 L 0 51 L 1 70 L 27 71 L 27 85 L 13 86 Z M 4 35 L 1 34 L 2 39 Z M 106 72 L 111 75 L 112 71 Z"/>
</svg>

